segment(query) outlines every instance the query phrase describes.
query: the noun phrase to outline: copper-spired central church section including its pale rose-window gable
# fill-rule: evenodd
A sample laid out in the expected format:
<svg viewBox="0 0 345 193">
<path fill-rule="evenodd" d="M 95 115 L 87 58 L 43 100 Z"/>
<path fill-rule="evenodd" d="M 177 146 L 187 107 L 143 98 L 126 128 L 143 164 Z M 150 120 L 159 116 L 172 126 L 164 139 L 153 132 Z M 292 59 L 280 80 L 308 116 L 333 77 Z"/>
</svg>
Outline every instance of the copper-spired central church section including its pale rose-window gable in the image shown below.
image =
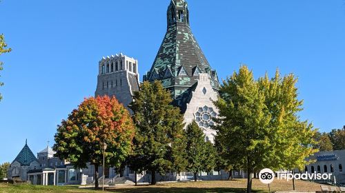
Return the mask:
<svg viewBox="0 0 345 193">
<path fill-rule="evenodd" d="M 167 31 L 150 72 L 144 81 L 161 81 L 170 90 L 187 124 L 197 121 L 213 141 L 212 117 L 217 116 L 219 80 L 190 29 L 190 12 L 185 0 L 172 0 L 167 10 Z M 186 124 L 186 125 L 187 125 Z"/>
</svg>

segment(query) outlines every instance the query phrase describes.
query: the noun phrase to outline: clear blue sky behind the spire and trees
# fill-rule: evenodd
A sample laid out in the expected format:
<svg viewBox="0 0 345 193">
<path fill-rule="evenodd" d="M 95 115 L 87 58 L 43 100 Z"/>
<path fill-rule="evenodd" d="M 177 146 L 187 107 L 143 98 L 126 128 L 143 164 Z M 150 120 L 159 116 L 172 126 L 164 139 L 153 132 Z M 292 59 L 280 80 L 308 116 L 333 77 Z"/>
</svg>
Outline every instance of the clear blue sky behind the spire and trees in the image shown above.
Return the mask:
<svg viewBox="0 0 345 193">
<path fill-rule="evenodd" d="M 103 56 L 123 52 L 149 70 L 166 32 L 170 0 L 3 0 L 0 33 L 0 163 L 25 140 L 36 154 L 56 125 L 93 96 Z M 345 125 L 344 0 L 188 0 L 191 27 L 208 61 L 225 78 L 240 63 L 255 76 L 293 72 L 302 119 L 328 132 Z"/>
</svg>

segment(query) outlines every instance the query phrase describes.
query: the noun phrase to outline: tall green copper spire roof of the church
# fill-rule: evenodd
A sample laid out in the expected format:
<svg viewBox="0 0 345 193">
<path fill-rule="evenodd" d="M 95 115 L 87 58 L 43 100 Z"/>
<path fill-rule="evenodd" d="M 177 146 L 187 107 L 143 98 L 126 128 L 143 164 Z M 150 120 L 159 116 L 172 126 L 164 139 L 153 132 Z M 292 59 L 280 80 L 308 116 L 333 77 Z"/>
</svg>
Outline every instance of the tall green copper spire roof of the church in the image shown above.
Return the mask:
<svg viewBox="0 0 345 193">
<path fill-rule="evenodd" d="M 144 81 L 162 81 L 172 92 L 174 105 L 184 112 L 191 89 L 199 73 L 207 73 L 210 84 L 219 88 L 217 72 L 210 67 L 197 39 L 190 30 L 188 4 L 184 0 L 170 0 L 167 10 L 168 29 L 157 57 Z"/>
</svg>

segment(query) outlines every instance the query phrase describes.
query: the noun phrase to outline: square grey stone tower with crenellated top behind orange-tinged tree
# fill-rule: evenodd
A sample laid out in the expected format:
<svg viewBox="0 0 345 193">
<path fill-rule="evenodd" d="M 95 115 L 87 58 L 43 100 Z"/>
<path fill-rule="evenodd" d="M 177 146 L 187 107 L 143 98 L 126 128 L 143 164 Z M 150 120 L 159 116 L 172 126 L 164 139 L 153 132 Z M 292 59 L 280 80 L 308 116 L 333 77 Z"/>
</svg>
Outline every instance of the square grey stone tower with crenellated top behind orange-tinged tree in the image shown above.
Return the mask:
<svg viewBox="0 0 345 193">
<path fill-rule="evenodd" d="M 115 96 L 127 108 L 139 91 L 138 61 L 120 53 L 99 61 L 95 96 Z"/>
</svg>

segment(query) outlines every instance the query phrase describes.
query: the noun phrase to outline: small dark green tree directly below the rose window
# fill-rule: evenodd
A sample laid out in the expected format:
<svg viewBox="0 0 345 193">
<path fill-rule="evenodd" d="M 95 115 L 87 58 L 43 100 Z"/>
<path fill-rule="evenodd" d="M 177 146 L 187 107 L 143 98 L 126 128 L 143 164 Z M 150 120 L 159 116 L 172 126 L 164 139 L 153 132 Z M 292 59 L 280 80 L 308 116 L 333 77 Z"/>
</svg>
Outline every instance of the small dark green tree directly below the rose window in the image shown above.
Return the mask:
<svg viewBox="0 0 345 193">
<path fill-rule="evenodd" d="M 197 181 L 199 172 L 209 172 L 215 167 L 215 148 L 212 143 L 205 141 L 205 134 L 195 121 L 187 126 L 185 131 L 187 143 L 187 171 L 193 172 Z"/>
</svg>

